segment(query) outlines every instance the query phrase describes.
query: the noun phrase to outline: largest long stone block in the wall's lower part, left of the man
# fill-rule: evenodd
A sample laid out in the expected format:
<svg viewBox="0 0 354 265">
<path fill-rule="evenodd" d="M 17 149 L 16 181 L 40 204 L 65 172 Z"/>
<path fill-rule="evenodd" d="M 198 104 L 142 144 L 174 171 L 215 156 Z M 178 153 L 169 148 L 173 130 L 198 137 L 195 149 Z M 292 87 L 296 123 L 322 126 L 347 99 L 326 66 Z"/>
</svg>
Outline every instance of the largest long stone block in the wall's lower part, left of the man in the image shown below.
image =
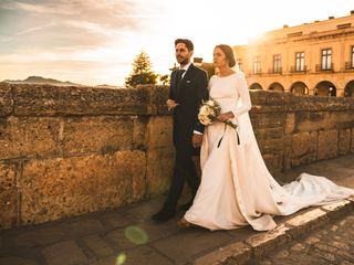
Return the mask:
<svg viewBox="0 0 354 265">
<path fill-rule="evenodd" d="M 31 160 L 21 179 L 22 222 L 41 223 L 140 200 L 145 173 L 142 151 Z"/>
</svg>

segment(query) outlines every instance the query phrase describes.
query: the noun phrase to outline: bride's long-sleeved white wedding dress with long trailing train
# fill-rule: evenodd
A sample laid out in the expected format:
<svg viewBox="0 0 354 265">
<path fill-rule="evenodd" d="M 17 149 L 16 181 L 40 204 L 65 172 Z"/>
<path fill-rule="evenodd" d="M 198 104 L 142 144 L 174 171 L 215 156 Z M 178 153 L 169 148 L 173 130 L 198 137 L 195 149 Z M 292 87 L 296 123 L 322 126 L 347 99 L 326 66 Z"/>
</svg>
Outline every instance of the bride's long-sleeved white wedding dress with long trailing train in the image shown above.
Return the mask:
<svg viewBox="0 0 354 265">
<path fill-rule="evenodd" d="M 280 186 L 268 171 L 259 150 L 248 112 L 251 99 L 242 72 L 212 76 L 210 97 L 231 110 L 233 128 L 214 123 L 205 129 L 201 146 L 201 183 L 185 219 L 209 230 L 252 225 L 257 231 L 277 226 L 271 215 L 289 215 L 310 205 L 334 202 L 354 194 L 324 177 L 302 173 L 296 181 Z M 218 142 L 222 137 L 218 147 Z"/>
</svg>

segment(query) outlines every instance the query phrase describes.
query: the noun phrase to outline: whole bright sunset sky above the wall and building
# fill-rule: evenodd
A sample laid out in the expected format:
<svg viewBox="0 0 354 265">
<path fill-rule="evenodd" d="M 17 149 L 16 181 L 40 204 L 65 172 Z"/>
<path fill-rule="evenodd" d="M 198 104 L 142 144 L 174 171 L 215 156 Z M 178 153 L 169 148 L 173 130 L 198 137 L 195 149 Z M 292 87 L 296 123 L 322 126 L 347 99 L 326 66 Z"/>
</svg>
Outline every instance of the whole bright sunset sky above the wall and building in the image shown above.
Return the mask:
<svg viewBox="0 0 354 265">
<path fill-rule="evenodd" d="M 176 38 L 191 39 L 195 56 L 210 62 L 216 44 L 351 10 L 354 0 L 0 0 L 0 81 L 123 85 L 142 50 L 169 74 Z"/>
</svg>

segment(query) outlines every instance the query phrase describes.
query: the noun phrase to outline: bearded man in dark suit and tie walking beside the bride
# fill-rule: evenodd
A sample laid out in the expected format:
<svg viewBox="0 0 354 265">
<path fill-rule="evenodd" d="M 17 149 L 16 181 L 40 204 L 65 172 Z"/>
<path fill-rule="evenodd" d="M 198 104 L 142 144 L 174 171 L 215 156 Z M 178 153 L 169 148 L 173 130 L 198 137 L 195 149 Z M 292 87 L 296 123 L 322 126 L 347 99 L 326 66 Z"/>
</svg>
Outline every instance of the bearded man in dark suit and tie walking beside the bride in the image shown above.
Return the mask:
<svg viewBox="0 0 354 265">
<path fill-rule="evenodd" d="M 199 186 L 191 157 L 199 155 L 202 141 L 204 126 L 198 120 L 198 110 L 201 100 L 208 99 L 208 75 L 190 62 L 194 52 L 191 41 L 177 39 L 175 49 L 179 67 L 170 75 L 169 97 L 166 104 L 174 113 L 173 138 L 176 161 L 168 197 L 162 210 L 153 215 L 156 221 L 167 221 L 175 215 L 185 181 L 190 188 L 192 199 Z M 187 211 L 192 199 L 181 209 Z"/>
</svg>

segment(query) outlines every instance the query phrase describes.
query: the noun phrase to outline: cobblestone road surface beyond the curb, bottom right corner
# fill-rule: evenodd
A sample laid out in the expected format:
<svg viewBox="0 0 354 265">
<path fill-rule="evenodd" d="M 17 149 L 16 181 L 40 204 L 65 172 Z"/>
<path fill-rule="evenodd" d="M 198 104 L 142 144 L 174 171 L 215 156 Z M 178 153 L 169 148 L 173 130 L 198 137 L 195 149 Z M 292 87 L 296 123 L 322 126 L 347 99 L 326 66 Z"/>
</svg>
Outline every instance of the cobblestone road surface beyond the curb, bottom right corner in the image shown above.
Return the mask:
<svg viewBox="0 0 354 265">
<path fill-rule="evenodd" d="M 354 264 L 354 213 L 340 218 L 270 252 L 259 265 L 350 265 Z"/>
</svg>

